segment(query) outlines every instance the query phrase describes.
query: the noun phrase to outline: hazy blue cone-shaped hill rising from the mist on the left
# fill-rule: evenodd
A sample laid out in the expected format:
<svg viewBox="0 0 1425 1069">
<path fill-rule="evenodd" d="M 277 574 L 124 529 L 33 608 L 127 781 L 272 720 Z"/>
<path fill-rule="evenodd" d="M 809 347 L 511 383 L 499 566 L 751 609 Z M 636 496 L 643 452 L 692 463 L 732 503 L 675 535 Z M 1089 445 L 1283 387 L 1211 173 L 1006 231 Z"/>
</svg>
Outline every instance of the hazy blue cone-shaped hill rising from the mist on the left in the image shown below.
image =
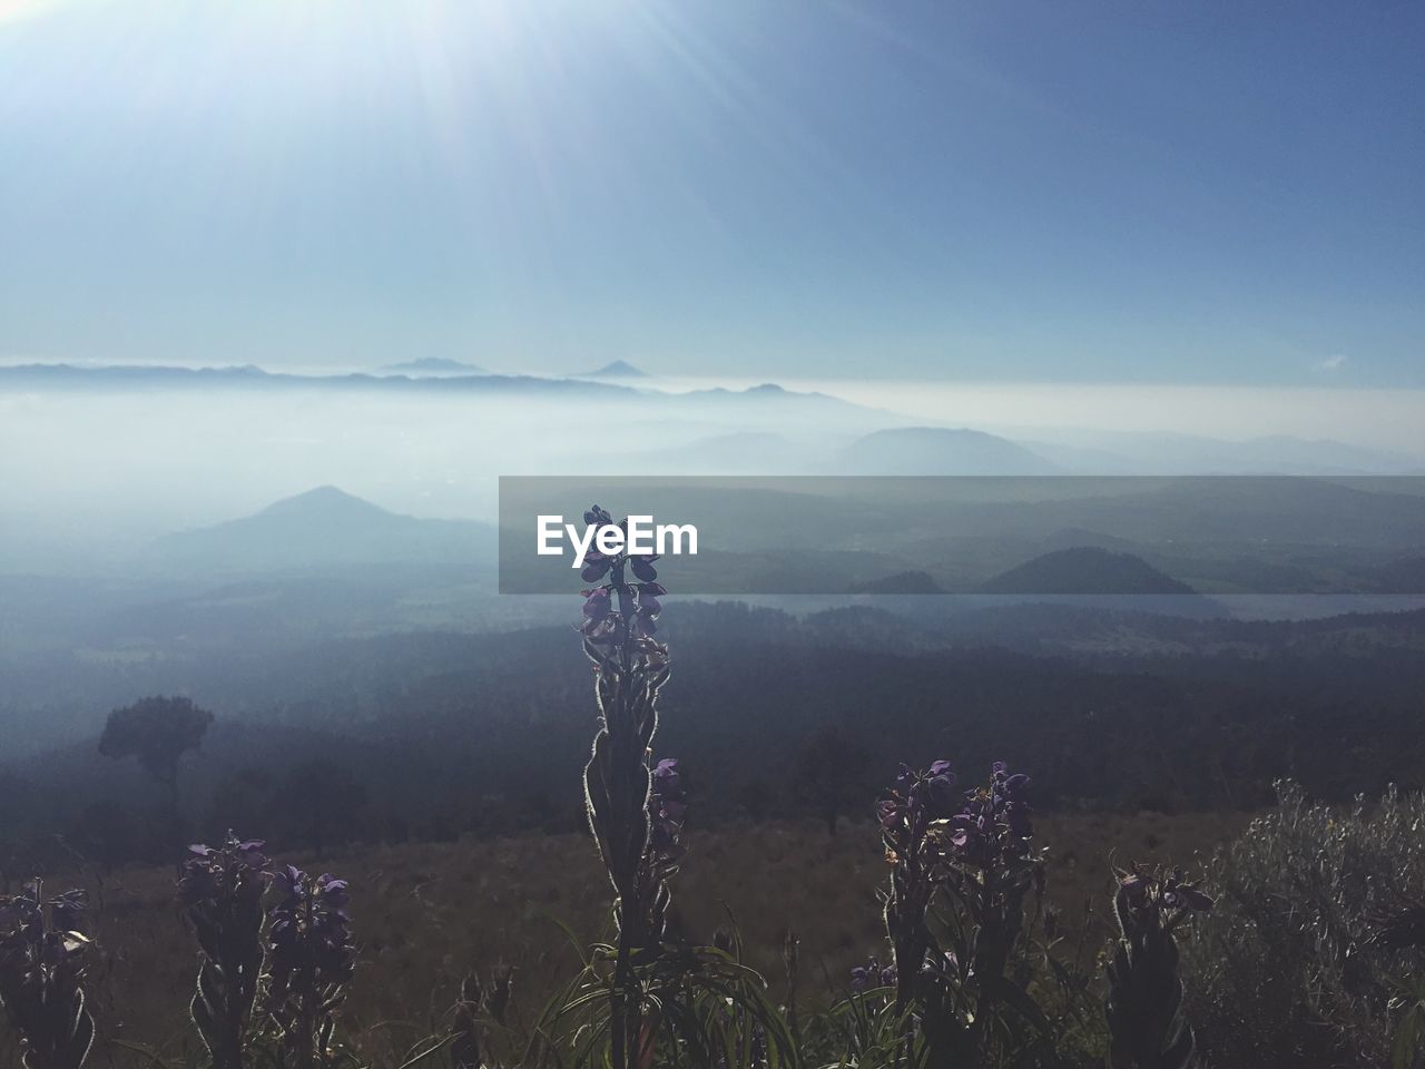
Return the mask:
<svg viewBox="0 0 1425 1069">
<path fill-rule="evenodd" d="M 494 540 L 494 529 L 483 523 L 402 516 L 335 486 L 319 486 L 252 516 L 165 534 L 147 559 L 208 574 L 388 563 L 469 563 L 487 570 Z"/>
</svg>

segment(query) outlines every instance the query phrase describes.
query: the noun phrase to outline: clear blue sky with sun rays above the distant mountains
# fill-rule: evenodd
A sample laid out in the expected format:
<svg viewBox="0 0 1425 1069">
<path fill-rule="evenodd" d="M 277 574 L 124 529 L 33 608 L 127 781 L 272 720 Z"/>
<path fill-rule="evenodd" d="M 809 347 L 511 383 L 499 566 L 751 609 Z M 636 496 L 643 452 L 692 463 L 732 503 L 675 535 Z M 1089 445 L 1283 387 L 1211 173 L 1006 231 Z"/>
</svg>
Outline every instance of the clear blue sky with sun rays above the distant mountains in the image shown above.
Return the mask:
<svg viewBox="0 0 1425 1069">
<path fill-rule="evenodd" d="M 0 359 L 1425 386 L 1418 4 L 0 0 Z"/>
</svg>

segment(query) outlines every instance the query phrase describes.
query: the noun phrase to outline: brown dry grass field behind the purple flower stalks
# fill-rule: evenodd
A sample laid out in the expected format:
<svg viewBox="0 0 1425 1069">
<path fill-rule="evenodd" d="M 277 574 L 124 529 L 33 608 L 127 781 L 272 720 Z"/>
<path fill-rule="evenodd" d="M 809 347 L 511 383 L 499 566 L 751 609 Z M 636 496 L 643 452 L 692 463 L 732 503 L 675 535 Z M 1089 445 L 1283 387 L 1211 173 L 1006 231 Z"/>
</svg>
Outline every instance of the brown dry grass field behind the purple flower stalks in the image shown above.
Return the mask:
<svg viewBox="0 0 1425 1069">
<path fill-rule="evenodd" d="M 1110 857 L 1119 864 L 1193 867 L 1197 852 L 1244 824 L 1218 814 L 1042 818 L 1050 897 L 1076 924 L 1086 899 L 1106 905 Z M 516 1009 L 529 1022 L 556 982 L 577 968 L 554 918 L 593 939 L 607 916 L 608 884 L 581 835 L 370 847 L 323 862 L 282 859 L 352 879 L 361 964 L 343 1035 L 378 1062 L 439 1031 L 460 976 L 472 968 L 513 964 Z M 94 874 L 70 877 L 90 888 L 97 908 L 101 956 L 93 1006 L 101 1035 L 144 1043 L 170 1062 L 195 1060 L 187 1021 L 194 951 L 172 904 L 171 871 L 127 869 L 103 881 Z M 884 877 L 869 824 L 846 827 L 836 838 L 814 822 L 693 831 L 675 881 L 675 924 L 705 941 L 735 918 L 747 956 L 778 995 L 778 949 L 784 931 L 795 928 L 802 938 L 802 999 L 825 1002 L 828 981 L 841 989 L 852 964 L 882 951 L 876 891 Z M 98 1065 L 142 1063 L 111 1045 L 98 1055 Z"/>
</svg>

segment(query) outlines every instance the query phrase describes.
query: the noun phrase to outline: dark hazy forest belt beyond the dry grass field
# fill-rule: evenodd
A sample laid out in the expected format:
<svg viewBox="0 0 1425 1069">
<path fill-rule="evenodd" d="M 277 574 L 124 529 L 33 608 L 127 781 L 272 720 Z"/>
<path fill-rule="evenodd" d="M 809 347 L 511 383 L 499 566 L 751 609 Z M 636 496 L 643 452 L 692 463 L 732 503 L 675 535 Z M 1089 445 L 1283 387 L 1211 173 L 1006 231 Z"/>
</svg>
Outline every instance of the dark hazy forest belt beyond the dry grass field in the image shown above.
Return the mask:
<svg viewBox="0 0 1425 1069">
<path fill-rule="evenodd" d="M 514 601 L 506 611 L 523 609 Z M 980 767 L 1009 740 L 1016 761 L 1035 770 L 1042 812 L 1247 812 L 1273 804 L 1271 783 L 1287 774 L 1334 802 L 1378 794 L 1392 780 L 1421 784 L 1425 626 L 1404 614 L 1186 631 L 1164 619 L 1154 624 L 1161 641 L 1121 650 L 1102 619 L 1013 619 L 1020 623 L 926 610 L 912 624 L 869 607 L 792 617 L 731 603 L 668 606 L 657 637 L 678 654 L 677 716 L 664 717 L 661 750 L 697 754 L 690 774 L 701 827 L 748 814 L 824 820 L 795 757 L 826 724 L 871 760 L 865 778 L 846 781 L 852 820 L 902 757 L 952 745 L 958 767 Z M 1120 621 L 1127 630 L 1141 623 Z M 1057 637 L 1040 643 L 1040 629 Z M 1074 651 L 1047 656 L 1069 636 Z M 63 832 L 87 857 L 118 865 L 171 857 L 195 840 L 218 842 L 229 827 L 261 828 L 288 849 L 314 845 L 321 831 L 333 851 L 587 827 L 579 790 L 542 787 L 573 784 L 589 760 L 580 701 L 589 668 L 569 656 L 567 626 L 383 634 L 97 673 L 76 663 L 50 696 L 26 674 L 7 677 L 7 741 L 34 737 L 38 725 L 21 718 L 31 706 L 43 706 L 44 728 L 57 730 L 61 707 L 77 717 L 81 704 L 93 721 L 95 703 L 107 710 L 115 688 L 201 691 L 219 720 L 202 741 L 202 775 L 182 774 L 191 830 L 175 838 L 164 815 L 150 812 L 134 790 L 134 761 L 80 770 L 80 754 L 56 754 L 23 775 L 19 765 L 0 773 L 0 838 Z M 21 683 L 31 697 L 19 697 Z M 234 716 L 222 716 L 228 708 Z M 346 770 L 366 802 L 314 827 L 288 798 L 309 778 L 296 775 L 309 760 Z"/>
</svg>

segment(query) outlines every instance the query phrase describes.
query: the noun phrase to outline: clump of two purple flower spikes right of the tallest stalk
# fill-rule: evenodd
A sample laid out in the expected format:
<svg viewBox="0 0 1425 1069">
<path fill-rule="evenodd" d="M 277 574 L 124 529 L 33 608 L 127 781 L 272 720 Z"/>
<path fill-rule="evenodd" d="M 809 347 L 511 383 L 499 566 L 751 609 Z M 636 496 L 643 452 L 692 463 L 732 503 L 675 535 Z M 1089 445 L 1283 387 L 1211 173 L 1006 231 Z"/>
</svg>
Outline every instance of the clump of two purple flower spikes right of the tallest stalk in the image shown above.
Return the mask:
<svg viewBox="0 0 1425 1069">
<path fill-rule="evenodd" d="M 852 975 L 854 986 L 879 978 L 893 988 L 889 1012 L 871 1019 L 901 1029 L 898 1060 L 1060 1063 L 1057 1040 L 1072 1031 L 1084 983 L 1054 958 L 1052 935 L 1033 931 L 1045 916 L 1045 869 L 1029 777 L 996 761 L 985 785 L 955 785 L 949 761 L 919 773 L 902 765 L 881 800 L 893 964 L 878 975 L 872 962 Z"/>
</svg>

